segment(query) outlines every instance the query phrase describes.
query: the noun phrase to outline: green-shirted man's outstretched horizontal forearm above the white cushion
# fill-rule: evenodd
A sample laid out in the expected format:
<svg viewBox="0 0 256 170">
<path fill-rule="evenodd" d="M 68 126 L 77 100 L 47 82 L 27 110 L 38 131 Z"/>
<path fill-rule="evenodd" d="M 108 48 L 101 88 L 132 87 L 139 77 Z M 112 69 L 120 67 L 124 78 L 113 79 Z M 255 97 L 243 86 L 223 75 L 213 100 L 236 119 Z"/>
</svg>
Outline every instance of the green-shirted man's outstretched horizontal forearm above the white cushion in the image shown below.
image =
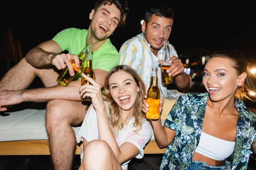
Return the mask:
<svg viewBox="0 0 256 170">
<path fill-rule="evenodd" d="M 70 83 L 67 87 L 56 85 L 50 88 L 37 88 L 22 91 L 21 95 L 24 102 L 47 102 L 52 99 L 66 99 L 80 101 L 80 83 Z"/>
</svg>

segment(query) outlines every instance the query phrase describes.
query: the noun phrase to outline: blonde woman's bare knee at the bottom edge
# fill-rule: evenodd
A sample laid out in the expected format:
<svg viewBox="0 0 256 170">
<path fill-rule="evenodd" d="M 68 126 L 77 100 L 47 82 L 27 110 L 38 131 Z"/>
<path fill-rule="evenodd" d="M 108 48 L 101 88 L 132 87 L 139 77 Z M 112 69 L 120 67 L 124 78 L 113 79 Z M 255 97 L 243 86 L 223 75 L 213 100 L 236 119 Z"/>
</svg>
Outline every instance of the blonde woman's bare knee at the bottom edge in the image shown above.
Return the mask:
<svg viewBox="0 0 256 170">
<path fill-rule="evenodd" d="M 103 140 L 93 140 L 84 148 L 83 166 L 79 170 L 122 170 L 113 150 Z"/>
</svg>

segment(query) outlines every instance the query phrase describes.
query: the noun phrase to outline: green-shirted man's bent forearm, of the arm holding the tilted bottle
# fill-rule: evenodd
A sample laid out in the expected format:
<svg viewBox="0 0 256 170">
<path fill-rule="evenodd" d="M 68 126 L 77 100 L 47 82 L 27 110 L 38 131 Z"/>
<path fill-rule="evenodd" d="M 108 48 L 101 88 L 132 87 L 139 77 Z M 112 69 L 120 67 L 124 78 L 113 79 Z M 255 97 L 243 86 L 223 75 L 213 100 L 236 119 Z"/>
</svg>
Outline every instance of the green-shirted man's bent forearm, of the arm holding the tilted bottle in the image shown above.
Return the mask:
<svg viewBox="0 0 256 170">
<path fill-rule="evenodd" d="M 39 47 L 35 47 L 26 54 L 26 61 L 35 68 L 42 68 L 52 65 L 51 59 L 54 55 L 56 54 L 44 51 Z"/>
</svg>

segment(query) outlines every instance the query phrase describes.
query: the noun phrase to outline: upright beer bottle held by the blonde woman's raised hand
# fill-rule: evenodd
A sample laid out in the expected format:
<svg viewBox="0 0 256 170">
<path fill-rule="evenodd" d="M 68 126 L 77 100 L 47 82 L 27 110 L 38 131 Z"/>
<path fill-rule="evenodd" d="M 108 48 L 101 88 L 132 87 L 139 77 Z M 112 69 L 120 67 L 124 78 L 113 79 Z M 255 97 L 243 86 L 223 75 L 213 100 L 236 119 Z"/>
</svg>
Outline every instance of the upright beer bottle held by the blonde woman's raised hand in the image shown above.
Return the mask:
<svg viewBox="0 0 256 170">
<path fill-rule="evenodd" d="M 87 56 L 84 59 L 84 69 L 82 71 L 82 73 L 84 73 L 85 75 L 93 78 L 95 80 L 95 74 L 93 71 L 93 67 L 92 67 L 92 48 L 87 48 Z M 90 84 L 91 83 L 85 79 L 84 77 L 81 77 L 81 85 L 86 85 L 86 84 Z M 88 96 L 86 96 L 85 98 L 82 98 L 81 96 L 81 101 L 82 102 L 90 102 L 92 101 L 92 99 Z"/>
</svg>

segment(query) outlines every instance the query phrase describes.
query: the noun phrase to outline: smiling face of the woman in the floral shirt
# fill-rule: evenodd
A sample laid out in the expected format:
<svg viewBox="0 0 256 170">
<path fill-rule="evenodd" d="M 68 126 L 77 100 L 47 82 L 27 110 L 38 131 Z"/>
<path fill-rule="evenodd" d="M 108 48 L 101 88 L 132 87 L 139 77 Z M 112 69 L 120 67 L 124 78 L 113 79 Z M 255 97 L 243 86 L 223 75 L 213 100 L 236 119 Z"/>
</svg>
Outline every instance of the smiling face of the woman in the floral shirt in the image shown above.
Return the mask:
<svg viewBox="0 0 256 170">
<path fill-rule="evenodd" d="M 213 57 L 206 63 L 203 84 L 215 102 L 234 97 L 236 89 L 242 85 L 232 61 L 221 57 Z"/>
</svg>

